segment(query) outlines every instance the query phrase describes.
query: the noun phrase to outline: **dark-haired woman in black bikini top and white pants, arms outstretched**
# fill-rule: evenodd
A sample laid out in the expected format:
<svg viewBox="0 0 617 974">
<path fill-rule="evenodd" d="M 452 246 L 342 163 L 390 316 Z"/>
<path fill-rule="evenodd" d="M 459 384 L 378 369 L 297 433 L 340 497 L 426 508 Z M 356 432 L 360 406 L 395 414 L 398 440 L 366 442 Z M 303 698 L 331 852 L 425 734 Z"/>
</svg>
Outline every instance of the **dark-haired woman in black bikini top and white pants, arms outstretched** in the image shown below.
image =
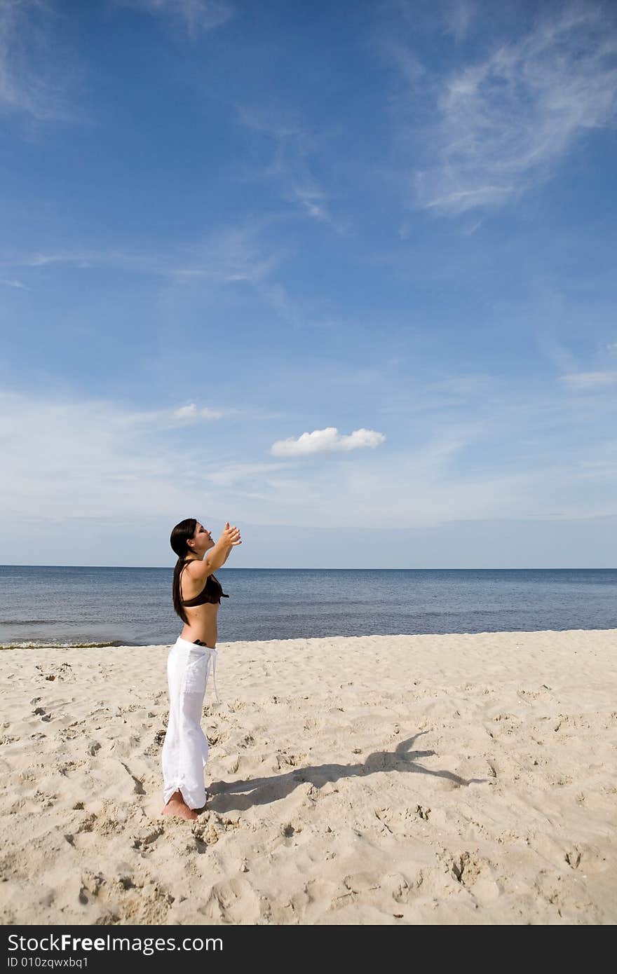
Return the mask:
<svg viewBox="0 0 617 974">
<path fill-rule="evenodd" d="M 193 517 L 175 525 L 170 541 L 177 555 L 174 609 L 184 628 L 167 662 L 170 719 L 161 757 L 163 814 L 195 819 L 195 808 L 206 805 L 208 741 L 201 727 L 202 707 L 211 664 L 214 678 L 216 614 L 221 596 L 228 598 L 213 572 L 225 564 L 232 547 L 242 542 L 238 528 L 230 528 L 227 521 L 214 543 L 210 531 Z"/>
</svg>

